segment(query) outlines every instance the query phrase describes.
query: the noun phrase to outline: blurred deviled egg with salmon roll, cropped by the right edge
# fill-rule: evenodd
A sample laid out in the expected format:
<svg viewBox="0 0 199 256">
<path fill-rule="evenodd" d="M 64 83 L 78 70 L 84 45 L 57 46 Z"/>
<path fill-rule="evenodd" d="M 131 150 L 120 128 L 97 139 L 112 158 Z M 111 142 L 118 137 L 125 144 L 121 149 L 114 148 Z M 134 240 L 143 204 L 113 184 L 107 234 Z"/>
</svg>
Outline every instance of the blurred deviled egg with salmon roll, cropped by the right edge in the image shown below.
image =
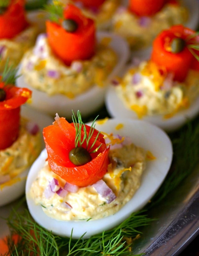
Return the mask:
<svg viewBox="0 0 199 256">
<path fill-rule="evenodd" d="M 106 107 L 113 117 L 143 119 L 175 130 L 199 111 L 198 45 L 195 31 L 182 25 L 162 31 L 149 60 L 130 65 L 113 80 Z M 179 44 L 178 44 L 179 43 Z"/>
</svg>

